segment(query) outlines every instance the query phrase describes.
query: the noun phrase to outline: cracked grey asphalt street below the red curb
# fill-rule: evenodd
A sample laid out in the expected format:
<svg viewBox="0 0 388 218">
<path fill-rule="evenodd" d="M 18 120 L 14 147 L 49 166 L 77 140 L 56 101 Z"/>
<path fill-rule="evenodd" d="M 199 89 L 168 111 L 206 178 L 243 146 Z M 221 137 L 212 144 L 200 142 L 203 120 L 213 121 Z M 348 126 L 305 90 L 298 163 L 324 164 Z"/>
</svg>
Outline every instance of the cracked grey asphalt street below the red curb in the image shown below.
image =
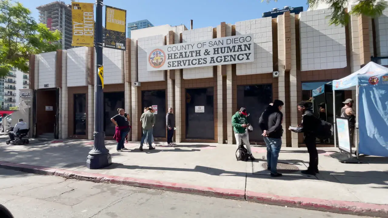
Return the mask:
<svg viewBox="0 0 388 218">
<path fill-rule="evenodd" d="M 0 203 L 15 218 L 360 218 L 4 169 Z"/>
</svg>

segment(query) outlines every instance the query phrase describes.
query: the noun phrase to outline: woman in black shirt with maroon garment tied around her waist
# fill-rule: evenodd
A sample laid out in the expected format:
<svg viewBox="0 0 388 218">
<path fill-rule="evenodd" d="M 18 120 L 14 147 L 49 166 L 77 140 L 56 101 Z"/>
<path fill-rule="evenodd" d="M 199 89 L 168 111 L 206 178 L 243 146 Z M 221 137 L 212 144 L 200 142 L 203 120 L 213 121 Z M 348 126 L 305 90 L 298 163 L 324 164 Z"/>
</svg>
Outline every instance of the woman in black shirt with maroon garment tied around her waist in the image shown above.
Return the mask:
<svg viewBox="0 0 388 218">
<path fill-rule="evenodd" d="M 117 109 L 119 114 L 111 118 L 112 123 L 116 126 L 116 131 L 114 132 L 113 138 L 117 142 L 117 151 L 127 150 L 124 147 L 125 136 L 130 131 L 128 118 L 125 116 L 125 111 L 122 108 Z"/>
</svg>

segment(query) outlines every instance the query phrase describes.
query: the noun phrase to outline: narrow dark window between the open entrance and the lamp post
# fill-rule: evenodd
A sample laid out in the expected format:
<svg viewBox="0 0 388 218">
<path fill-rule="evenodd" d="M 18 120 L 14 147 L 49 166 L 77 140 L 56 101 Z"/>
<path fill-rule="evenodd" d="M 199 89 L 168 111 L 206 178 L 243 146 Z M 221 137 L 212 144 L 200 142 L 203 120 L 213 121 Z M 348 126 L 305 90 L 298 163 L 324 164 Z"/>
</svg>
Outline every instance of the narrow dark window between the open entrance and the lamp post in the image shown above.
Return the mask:
<svg viewBox="0 0 388 218">
<path fill-rule="evenodd" d="M 86 94 L 74 94 L 74 135 L 86 135 Z"/>
</svg>

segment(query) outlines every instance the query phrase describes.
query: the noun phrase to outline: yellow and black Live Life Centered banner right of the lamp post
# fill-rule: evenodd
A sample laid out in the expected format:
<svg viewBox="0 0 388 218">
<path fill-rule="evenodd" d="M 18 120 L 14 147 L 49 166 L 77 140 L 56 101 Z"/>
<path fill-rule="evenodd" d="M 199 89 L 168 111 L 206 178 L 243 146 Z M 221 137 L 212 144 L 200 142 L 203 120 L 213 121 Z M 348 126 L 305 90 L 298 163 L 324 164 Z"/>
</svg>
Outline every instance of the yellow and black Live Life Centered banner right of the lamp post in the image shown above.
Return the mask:
<svg viewBox="0 0 388 218">
<path fill-rule="evenodd" d="M 126 10 L 105 6 L 104 47 L 125 50 Z"/>
</svg>

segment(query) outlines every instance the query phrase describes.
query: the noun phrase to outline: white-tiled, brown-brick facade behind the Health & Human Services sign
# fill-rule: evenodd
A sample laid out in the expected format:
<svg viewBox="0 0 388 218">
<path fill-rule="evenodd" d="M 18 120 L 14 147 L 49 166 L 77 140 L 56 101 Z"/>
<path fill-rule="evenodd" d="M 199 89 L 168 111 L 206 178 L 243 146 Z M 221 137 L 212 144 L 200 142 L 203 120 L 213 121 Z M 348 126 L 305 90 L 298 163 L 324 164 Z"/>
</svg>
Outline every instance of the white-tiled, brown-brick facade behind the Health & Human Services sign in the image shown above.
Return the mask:
<svg viewBox="0 0 388 218">
<path fill-rule="evenodd" d="M 285 103 L 283 146 L 303 146 L 303 135 L 288 130 L 301 121 L 297 102 L 310 100 L 312 90 L 320 84 L 357 71 L 371 61 L 371 56 L 386 55 L 388 10 L 377 18 L 352 15 L 347 26 L 330 26 L 330 14 L 330 9 L 299 15 L 287 11 L 276 18 L 220 22 L 216 27 L 164 25 L 132 31 L 126 51 L 103 50 L 106 138 L 114 134 L 109 119 L 121 107 L 131 115 L 131 140 L 140 140 L 143 107 L 153 106 L 158 111 L 155 140 L 166 140 L 165 114 L 172 107 L 176 142 L 233 144 L 232 115 L 246 107 L 254 129 L 249 138 L 260 143 L 258 117 L 270 102 L 279 99 Z M 253 62 L 220 61 L 218 66 L 147 70 L 147 52 L 155 47 L 247 34 L 253 36 Z M 37 127 L 37 131 L 52 131 L 56 126 L 59 138 L 93 139 L 94 61 L 94 48 L 86 47 L 31 57 L 30 88 L 36 90 L 36 126 L 48 125 L 47 119 L 40 118 L 59 118 L 49 124 L 51 128 Z M 339 101 L 355 99 L 352 91 L 338 95 Z M 51 105 L 56 105 L 56 112 L 45 110 Z"/>
</svg>

